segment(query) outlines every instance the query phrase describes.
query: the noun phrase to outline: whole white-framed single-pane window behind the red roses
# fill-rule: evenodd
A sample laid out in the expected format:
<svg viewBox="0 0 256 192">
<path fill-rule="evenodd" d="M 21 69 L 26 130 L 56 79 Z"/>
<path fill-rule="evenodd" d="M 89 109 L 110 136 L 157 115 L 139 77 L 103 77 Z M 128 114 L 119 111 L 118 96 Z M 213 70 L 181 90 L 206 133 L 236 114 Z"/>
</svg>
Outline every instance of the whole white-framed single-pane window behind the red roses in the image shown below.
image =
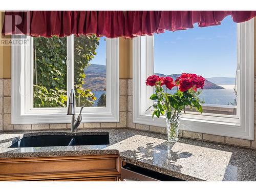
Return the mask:
<svg viewBox="0 0 256 192">
<path fill-rule="evenodd" d="M 154 92 L 149 75 L 196 73 L 206 78 L 200 94 L 203 114 L 186 109 L 180 129 L 253 139 L 254 21 L 155 34 L 133 40 L 135 123 L 165 126 L 145 112 Z M 172 90 L 175 91 L 175 90 Z"/>
</svg>

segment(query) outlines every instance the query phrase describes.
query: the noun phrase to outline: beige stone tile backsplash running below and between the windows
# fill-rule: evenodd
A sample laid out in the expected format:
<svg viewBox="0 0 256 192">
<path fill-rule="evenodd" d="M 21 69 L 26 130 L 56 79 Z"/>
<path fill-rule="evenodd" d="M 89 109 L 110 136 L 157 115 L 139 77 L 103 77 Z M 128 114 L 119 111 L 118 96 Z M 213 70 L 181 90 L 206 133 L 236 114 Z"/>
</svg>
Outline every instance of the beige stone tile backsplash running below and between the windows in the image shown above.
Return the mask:
<svg viewBox="0 0 256 192">
<path fill-rule="evenodd" d="M 255 78 L 256 79 L 256 78 Z M 255 80 L 254 79 L 254 80 Z M 255 83 L 256 84 L 256 83 Z M 254 90 L 256 86 L 254 84 Z M 150 126 L 144 124 L 133 123 L 133 79 L 120 79 L 119 81 L 119 122 L 99 122 L 99 123 L 81 123 L 79 129 L 105 128 L 105 127 L 129 127 L 131 129 L 158 132 L 166 134 L 165 127 Z M 254 97 L 254 112 L 256 111 L 256 97 Z M 254 113 L 255 114 L 255 113 Z M 254 118 L 254 123 L 256 118 Z M 256 124 L 256 123 L 255 123 Z M 254 138 L 256 138 L 256 130 L 254 126 Z M 51 129 L 70 129 L 70 123 L 58 124 L 11 124 L 11 79 L 0 79 L 0 131 L 11 130 L 51 130 Z M 179 131 L 180 137 L 207 140 L 217 143 L 226 143 L 230 145 L 238 145 L 243 147 L 256 148 L 256 141 L 237 139 L 231 137 L 223 137 L 217 135 L 196 133 L 190 131 Z"/>
</svg>

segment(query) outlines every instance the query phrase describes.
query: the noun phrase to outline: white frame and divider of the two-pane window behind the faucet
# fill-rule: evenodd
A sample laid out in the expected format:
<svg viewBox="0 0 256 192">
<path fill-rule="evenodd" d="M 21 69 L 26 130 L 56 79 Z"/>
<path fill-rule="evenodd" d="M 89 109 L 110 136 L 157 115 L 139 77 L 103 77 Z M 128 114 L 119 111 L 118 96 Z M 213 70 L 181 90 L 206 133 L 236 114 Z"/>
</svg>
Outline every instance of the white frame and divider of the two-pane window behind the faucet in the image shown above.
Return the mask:
<svg viewBox="0 0 256 192">
<path fill-rule="evenodd" d="M 69 123 L 67 108 L 33 108 L 33 37 L 13 35 L 12 38 L 27 38 L 29 44 L 11 47 L 12 89 L 11 123 Z M 73 35 L 67 37 L 67 94 L 73 89 Z M 80 108 L 76 108 L 79 113 Z M 119 38 L 106 38 L 106 106 L 86 107 L 82 122 L 119 122 Z"/>
</svg>

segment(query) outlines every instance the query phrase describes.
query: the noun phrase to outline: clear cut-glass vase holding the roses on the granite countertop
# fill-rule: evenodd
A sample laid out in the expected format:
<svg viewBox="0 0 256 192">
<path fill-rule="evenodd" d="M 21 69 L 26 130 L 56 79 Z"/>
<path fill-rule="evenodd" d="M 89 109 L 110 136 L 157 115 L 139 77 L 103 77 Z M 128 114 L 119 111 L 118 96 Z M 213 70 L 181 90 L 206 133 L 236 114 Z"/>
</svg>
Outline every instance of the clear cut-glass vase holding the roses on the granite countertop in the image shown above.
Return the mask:
<svg viewBox="0 0 256 192">
<path fill-rule="evenodd" d="M 172 116 L 172 118 L 170 118 L 169 120 L 168 120 L 167 116 L 165 115 L 167 138 L 168 138 L 169 142 L 177 142 L 178 141 L 180 115 L 181 115 L 181 113 L 178 113 L 178 114 Z"/>
</svg>

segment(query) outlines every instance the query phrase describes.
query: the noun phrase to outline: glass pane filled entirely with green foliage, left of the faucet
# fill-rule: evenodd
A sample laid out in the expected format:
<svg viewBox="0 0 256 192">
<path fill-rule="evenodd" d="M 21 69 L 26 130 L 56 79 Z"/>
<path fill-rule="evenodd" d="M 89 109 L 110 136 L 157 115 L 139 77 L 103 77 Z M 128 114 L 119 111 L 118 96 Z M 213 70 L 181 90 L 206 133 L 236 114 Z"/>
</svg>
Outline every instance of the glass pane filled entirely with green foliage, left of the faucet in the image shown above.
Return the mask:
<svg viewBox="0 0 256 192">
<path fill-rule="evenodd" d="M 67 106 L 67 38 L 33 38 L 33 107 Z"/>
</svg>

